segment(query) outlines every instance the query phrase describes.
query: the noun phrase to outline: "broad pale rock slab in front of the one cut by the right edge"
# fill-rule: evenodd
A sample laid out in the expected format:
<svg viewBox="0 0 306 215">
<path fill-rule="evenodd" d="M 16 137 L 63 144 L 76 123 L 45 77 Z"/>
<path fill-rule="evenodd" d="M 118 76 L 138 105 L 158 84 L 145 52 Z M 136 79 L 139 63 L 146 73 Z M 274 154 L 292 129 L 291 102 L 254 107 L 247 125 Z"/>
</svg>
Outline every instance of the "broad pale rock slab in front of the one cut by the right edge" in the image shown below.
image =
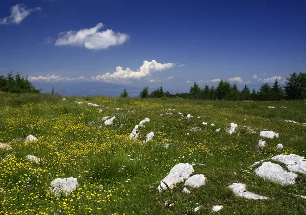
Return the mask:
<svg viewBox="0 0 306 215">
<path fill-rule="evenodd" d="M 297 175 L 295 173 L 287 172 L 282 166 L 268 162 L 263 162 L 262 165 L 257 168 L 254 173 L 262 178 L 266 178 L 272 182 L 281 184 L 294 184 Z"/>
</svg>

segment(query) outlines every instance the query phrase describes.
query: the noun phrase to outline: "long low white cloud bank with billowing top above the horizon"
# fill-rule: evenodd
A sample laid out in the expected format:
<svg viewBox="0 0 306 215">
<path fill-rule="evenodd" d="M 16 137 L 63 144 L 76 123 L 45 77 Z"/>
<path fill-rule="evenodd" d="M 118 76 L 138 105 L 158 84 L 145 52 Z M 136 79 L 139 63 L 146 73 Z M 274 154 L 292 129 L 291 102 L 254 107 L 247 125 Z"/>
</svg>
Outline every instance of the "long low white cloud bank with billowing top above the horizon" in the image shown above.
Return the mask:
<svg viewBox="0 0 306 215">
<path fill-rule="evenodd" d="M 84 78 L 84 77 L 79 77 L 79 78 L 69 78 L 69 77 L 61 77 L 61 76 L 38 76 L 38 77 L 29 77 L 30 81 L 104 81 L 104 82 L 114 82 L 114 83 L 126 83 L 131 80 L 140 80 L 142 78 L 149 78 L 151 77 L 152 73 L 155 73 L 157 71 L 162 71 L 165 69 L 172 68 L 175 64 L 174 63 L 158 63 L 155 60 L 152 60 L 151 62 L 149 61 L 143 61 L 142 66 L 140 66 L 137 71 L 133 71 L 130 68 L 126 68 L 125 70 L 122 69 L 121 66 L 116 67 L 116 71 L 114 73 L 106 73 L 104 75 L 98 75 L 98 76 L 93 76 L 91 78 Z M 167 78 L 167 80 L 172 79 L 173 77 L 170 76 Z M 151 80 L 151 81 L 150 81 Z M 149 79 L 149 82 L 159 82 L 162 80 L 165 80 L 165 78 L 160 78 L 160 79 Z"/>
</svg>

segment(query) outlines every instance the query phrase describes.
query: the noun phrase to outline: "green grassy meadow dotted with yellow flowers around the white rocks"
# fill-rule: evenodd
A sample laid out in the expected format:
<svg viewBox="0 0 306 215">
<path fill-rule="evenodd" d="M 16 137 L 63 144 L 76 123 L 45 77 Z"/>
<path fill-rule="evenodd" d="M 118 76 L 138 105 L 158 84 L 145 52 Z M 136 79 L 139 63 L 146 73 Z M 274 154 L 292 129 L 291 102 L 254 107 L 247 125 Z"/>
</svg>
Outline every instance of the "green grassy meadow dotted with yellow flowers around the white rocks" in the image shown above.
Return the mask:
<svg viewBox="0 0 306 215">
<path fill-rule="evenodd" d="M 222 214 L 306 213 L 306 200 L 293 195 L 306 196 L 304 175 L 299 175 L 294 185 L 281 186 L 256 177 L 248 169 L 254 161 L 279 154 L 278 143 L 284 145 L 283 154 L 305 155 L 306 127 L 285 122 L 306 123 L 304 101 L 89 97 L 62 102 L 58 95 L 5 93 L 0 94 L 0 100 L 0 142 L 11 142 L 13 148 L 11 152 L 0 151 L 0 158 L 13 155 L 13 159 L 0 162 L 0 214 L 209 214 L 213 205 L 224 205 Z M 75 100 L 85 103 L 78 105 Z M 194 117 L 187 120 L 177 112 Z M 114 124 L 105 126 L 104 116 L 116 116 Z M 130 140 L 134 126 L 145 117 L 150 122 L 140 128 L 139 140 Z M 239 126 L 232 135 L 224 132 L 231 122 Z M 201 131 L 192 132 L 192 127 Z M 221 128 L 219 133 L 217 128 Z M 275 131 L 279 138 L 268 139 L 267 147 L 259 149 L 262 130 Z M 155 133 L 153 140 L 142 144 L 150 131 Z M 25 144 L 23 139 L 29 134 L 39 142 Z M 165 149 L 164 144 L 170 145 Z M 25 161 L 28 154 L 43 162 Z M 159 193 L 159 181 L 180 162 L 205 164 L 195 166 L 194 174 L 204 174 L 208 183 L 190 188 L 190 195 L 182 193 L 183 184 Z M 49 186 L 58 177 L 78 178 L 79 189 L 67 197 L 54 197 Z M 251 192 L 270 199 L 235 197 L 227 188 L 233 182 L 245 183 Z M 166 200 L 174 206 L 166 207 Z M 193 212 L 191 208 L 199 205 L 201 209 Z"/>
</svg>

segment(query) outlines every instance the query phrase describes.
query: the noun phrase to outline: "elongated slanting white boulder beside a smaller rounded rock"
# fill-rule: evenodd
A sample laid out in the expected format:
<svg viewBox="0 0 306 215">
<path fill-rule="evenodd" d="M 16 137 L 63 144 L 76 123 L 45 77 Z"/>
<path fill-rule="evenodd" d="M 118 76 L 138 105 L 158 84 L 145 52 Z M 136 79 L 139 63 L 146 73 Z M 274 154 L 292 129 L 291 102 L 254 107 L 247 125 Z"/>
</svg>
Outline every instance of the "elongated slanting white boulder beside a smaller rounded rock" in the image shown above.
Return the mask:
<svg viewBox="0 0 306 215">
<path fill-rule="evenodd" d="M 189 163 L 179 163 L 173 166 L 170 173 L 161 180 L 158 190 L 172 189 L 176 183 L 184 182 L 194 172 L 192 165 Z"/>
</svg>

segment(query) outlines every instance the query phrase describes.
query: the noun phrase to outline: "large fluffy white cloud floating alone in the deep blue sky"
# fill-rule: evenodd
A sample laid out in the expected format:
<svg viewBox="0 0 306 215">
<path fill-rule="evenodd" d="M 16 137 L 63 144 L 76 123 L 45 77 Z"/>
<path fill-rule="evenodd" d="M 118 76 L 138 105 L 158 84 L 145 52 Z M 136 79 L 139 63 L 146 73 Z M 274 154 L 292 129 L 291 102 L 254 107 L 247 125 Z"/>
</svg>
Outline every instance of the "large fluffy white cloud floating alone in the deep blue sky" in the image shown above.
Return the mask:
<svg viewBox="0 0 306 215">
<path fill-rule="evenodd" d="M 72 45 L 89 50 L 102 50 L 112 45 L 121 45 L 130 38 L 127 34 L 115 33 L 111 29 L 99 32 L 102 27 L 104 24 L 98 23 L 91 29 L 61 32 L 55 45 Z"/>
</svg>

